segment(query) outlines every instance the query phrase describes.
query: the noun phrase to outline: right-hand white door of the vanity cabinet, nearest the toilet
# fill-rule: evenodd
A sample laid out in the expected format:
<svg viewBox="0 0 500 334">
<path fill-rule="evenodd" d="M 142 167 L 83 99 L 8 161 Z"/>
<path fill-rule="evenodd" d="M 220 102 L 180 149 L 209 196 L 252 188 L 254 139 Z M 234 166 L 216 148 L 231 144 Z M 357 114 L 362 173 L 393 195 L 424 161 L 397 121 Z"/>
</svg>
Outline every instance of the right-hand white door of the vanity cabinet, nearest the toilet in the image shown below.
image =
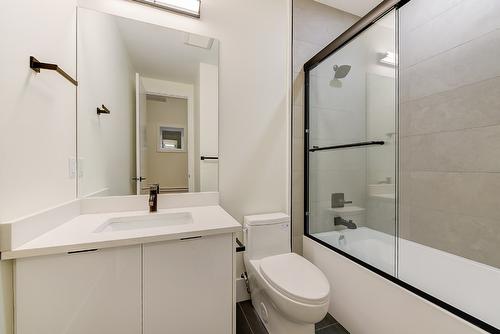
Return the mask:
<svg viewBox="0 0 500 334">
<path fill-rule="evenodd" d="M 229 334 L 233 236 L 145 244 L 144 334 Z"/>
</svg>

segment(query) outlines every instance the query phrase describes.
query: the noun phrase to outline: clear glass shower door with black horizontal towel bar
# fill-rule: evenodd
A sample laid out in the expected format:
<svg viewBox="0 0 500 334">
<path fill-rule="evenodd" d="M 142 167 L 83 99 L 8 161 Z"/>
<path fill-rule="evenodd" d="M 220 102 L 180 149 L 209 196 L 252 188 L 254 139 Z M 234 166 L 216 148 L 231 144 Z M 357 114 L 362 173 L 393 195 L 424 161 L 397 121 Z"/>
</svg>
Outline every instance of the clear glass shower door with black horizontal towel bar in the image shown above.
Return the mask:
<svg viewBox="0 0 500 334">
<path fill-rule="evenodd" d="M 396 273 L 396 14 L 306 72 L 306 233 Z"/>
</svg>

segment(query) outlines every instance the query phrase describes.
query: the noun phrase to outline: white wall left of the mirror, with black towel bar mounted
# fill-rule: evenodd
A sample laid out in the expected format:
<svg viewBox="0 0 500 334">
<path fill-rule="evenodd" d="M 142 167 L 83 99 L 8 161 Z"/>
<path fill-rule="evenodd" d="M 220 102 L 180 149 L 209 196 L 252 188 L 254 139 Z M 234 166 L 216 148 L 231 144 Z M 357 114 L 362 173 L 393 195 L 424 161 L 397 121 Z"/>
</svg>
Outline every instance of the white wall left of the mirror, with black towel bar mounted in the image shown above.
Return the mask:
<svg viewBox="0 0 500 334">
<path fill-rule="evenodd" d="M 76 87 L 28 66 L 32 55 L 76 77 L 75 1 L 2 1 L 0 45 L 1 223 L 75 198 Z M 0 263 L 0 289 L 0 333 L 10 334 L 10 262 Z"/>
</svg>

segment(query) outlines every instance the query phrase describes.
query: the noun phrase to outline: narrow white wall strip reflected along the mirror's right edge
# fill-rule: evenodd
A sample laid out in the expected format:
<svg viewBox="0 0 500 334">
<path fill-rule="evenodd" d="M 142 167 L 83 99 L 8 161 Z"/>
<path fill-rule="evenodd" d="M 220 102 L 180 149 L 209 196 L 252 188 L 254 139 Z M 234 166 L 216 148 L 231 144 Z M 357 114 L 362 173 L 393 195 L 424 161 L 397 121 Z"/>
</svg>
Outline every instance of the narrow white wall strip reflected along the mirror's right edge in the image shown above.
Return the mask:
<svg viewBox="0 0 500 334">
<path fill-rule="evenodd" d="M 219 155 L 219 68 L 200 63 L 199 71 L 199 156 Z M 219 182 L 219 161 L 200 161 L 200 191 L 217 191 Z"/>
</svg>

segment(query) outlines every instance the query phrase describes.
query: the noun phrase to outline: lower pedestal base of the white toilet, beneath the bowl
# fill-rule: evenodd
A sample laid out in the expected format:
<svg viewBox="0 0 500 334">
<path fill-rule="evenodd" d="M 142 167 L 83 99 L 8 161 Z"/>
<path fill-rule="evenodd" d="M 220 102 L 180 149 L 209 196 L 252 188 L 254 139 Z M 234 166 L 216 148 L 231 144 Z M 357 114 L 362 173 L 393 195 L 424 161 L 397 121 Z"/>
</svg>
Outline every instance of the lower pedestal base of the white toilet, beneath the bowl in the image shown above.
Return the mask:
<svg viewBox="0 0 500 334">
<path fill-rule="evenodd" d="M 296 323 L 284 317 L 266 292 L 252 283 L 252 305 L 269 334 L 314 334 L 314 324 Z"/>
</svg>

